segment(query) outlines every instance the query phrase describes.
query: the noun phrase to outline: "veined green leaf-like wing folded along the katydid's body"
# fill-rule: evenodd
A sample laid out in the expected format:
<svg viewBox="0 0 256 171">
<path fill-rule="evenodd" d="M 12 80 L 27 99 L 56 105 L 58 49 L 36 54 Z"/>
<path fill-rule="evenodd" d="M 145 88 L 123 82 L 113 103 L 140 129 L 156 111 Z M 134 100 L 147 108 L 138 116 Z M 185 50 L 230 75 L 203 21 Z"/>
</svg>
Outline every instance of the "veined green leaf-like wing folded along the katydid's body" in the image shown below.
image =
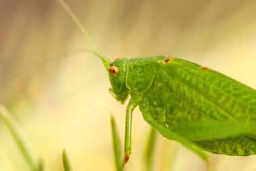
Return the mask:
<svg viewBox="0 0 256 171">
<path fill-rule="evenodd" d="M 156 78 L 141 103 L 143 118 L 168 139 L 173 134 L 212 153 L 256 153 L 256 91 L 183 59 L 154 63 Z"/>
</svg>

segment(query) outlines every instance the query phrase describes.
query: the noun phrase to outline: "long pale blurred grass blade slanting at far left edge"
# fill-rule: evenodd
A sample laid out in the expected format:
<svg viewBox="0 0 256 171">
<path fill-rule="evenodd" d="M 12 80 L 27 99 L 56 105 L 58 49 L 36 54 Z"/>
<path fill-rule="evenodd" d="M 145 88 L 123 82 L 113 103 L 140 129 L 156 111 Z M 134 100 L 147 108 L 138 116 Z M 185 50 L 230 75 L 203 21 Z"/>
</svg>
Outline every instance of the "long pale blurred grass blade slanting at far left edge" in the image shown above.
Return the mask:
<svg viewBox="0 0 256 171">
<path fill-rule="evenodd" d="M 3 118 L 3 123 L 5 123 L 7 129 L 9 129 L 11 136 L 15 140 L 15 143 L 18 145 L 22 156 L 28 163 L 30 169 L 38 170 L 38 164 L 35 162 L 36 160 L 34 160 L 34 158 L 32 157 L 32 154 L 28 146 L 24 142 L 22 135 L 18 131 L 18 127 L 15 125 L 15 121 L 13 121 L 11 114 L 9 114 L 8 110 L 4 106 L 0 106 L 0 116 Z"/>
</svg>

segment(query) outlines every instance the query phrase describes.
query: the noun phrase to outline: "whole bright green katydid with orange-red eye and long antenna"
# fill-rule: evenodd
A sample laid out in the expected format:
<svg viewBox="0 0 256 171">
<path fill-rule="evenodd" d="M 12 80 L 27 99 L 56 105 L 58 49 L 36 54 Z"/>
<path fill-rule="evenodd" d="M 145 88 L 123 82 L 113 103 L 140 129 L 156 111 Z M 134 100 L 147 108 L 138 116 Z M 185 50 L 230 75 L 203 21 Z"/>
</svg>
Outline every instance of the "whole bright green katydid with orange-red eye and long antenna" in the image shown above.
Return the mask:
<svg viewBox="0 0 256 171">
<path fill-rule="evenodd" d="M 125 102 L 125 157 L 131 154 L 131 121 L 139 106 L 143 118 L 167 139 L 212 153 L 249 156 L 256 153 L 253 133 L 256 91 L 207 67 L 174 57 L 107 59 L 77 20 L 61 5 L 92 43 L 108 72 L 110 93 Z"/>
</svg>

